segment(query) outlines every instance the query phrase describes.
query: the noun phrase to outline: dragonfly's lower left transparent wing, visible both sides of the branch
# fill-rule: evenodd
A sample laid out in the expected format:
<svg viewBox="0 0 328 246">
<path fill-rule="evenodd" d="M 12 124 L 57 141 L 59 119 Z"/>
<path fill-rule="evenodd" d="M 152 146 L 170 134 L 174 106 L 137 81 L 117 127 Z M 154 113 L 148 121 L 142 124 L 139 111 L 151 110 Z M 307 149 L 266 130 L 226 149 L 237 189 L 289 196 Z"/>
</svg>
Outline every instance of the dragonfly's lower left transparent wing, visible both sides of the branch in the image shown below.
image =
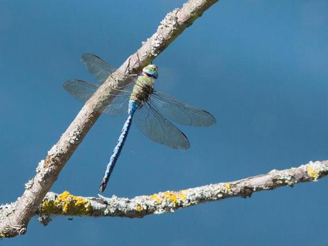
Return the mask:
<svg viewBox="0 0 328 246">
<path fill-rule="evenodd" d="M 89 98 L 97 91 L 99 85 L 90 83 L 84 80 L 68 80 L 63 84 L 64 89 L 74 96 L 75 98 L 86 102 Z M 109 116 L 119 116 L 123 115 L 128 111 L 129 99 L 131 95 L 131 88 L 133 86 L 127 87 L 126 90 L 113 90 L 114 99 L 109 105 L 104 107 L 101 113 Z"/>
</svg>

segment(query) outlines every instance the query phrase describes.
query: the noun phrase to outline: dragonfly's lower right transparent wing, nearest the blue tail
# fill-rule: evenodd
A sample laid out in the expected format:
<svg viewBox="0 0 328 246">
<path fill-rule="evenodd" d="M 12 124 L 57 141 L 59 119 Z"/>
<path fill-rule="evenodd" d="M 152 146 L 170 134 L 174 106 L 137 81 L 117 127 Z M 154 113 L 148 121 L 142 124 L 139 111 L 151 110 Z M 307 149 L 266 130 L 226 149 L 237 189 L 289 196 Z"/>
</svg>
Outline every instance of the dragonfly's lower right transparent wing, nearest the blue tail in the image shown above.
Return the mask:
<svg viewBox="0 0 328 246">
<path fill-rule="evenodd" d="M 166 120 L 154 105 L 145 102 L 135 112 L 134 120 L 140 131 L 152 141 L 173 149 L 189 149 L 186 135 Z"/>
</svg>

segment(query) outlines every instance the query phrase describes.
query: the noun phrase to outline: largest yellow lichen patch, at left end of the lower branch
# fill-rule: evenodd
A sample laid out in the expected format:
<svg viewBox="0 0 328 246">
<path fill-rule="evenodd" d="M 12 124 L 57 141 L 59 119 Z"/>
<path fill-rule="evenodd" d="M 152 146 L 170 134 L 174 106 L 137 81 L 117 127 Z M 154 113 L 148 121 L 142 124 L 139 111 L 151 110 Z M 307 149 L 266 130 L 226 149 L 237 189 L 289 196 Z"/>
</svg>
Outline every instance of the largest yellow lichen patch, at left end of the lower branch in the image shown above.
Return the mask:
<svg viewBox="0 0 328 246">
<path fill-rule="evenodd" d="M 64 191 L 55 201 L 45 200 L 41 205 L 44 214 L 87 215 L 90 213 L 90 201 Z"/>
</svg>

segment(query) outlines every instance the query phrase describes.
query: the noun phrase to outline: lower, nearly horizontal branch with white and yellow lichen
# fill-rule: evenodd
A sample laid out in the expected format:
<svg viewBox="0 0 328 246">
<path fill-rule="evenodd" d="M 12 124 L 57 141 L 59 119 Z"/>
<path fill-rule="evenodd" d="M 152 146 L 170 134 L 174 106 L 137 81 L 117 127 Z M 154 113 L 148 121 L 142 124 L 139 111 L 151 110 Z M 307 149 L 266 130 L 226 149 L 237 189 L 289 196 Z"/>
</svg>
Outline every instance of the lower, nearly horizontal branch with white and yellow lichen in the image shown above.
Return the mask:
<svg viewBox="0 0 328 246">
<path fill-rule="evenodd" d="M 78 197 L 67 191 L 62 194 L 48 192 L 36 214 L 44 225 L 50 215 L 120 216 L 141 218 L 145 215 L 173 213 L 199 203 L 223 200 L 230 197 L 250 197 L 253 192 L 293 186 L 302 182 L 317 181 L 328 175 L 328 160 L 309 162 L 285 170 L 272 170 L 242 180 L 209 184 L 180 191 L 165 191 L 132 199 L 112 196 Z"/>
</svg>

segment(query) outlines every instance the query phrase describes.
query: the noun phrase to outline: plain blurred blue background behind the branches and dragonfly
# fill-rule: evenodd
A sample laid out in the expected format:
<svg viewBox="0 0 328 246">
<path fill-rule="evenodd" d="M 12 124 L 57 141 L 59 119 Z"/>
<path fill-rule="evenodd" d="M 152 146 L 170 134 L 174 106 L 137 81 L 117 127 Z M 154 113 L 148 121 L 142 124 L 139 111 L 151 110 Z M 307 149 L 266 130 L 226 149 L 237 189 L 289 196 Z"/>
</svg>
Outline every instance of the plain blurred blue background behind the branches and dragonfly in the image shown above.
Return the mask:
<svg viewBox="0 0 328 246">
<path fill-rule="evenodd" d="M 16 200 L 82 103 L 67 79 L 95 81 L 94 53 L 119 66 L 183 0 L 0 0 L 0 202 Z M 191 148 L 135 125 L 104 195 L 134 197 L 233 181 L 327 159 L 328 1 L 222 0 L 154 61 L 156 88 L 210 111 L 181 126 Z M 52 191 L 96 196 L 125 117 L 101 116 Z M 328 179 L 143 219 L 34 217 L 4 245 L 328 245 Z"/>
</svg>

